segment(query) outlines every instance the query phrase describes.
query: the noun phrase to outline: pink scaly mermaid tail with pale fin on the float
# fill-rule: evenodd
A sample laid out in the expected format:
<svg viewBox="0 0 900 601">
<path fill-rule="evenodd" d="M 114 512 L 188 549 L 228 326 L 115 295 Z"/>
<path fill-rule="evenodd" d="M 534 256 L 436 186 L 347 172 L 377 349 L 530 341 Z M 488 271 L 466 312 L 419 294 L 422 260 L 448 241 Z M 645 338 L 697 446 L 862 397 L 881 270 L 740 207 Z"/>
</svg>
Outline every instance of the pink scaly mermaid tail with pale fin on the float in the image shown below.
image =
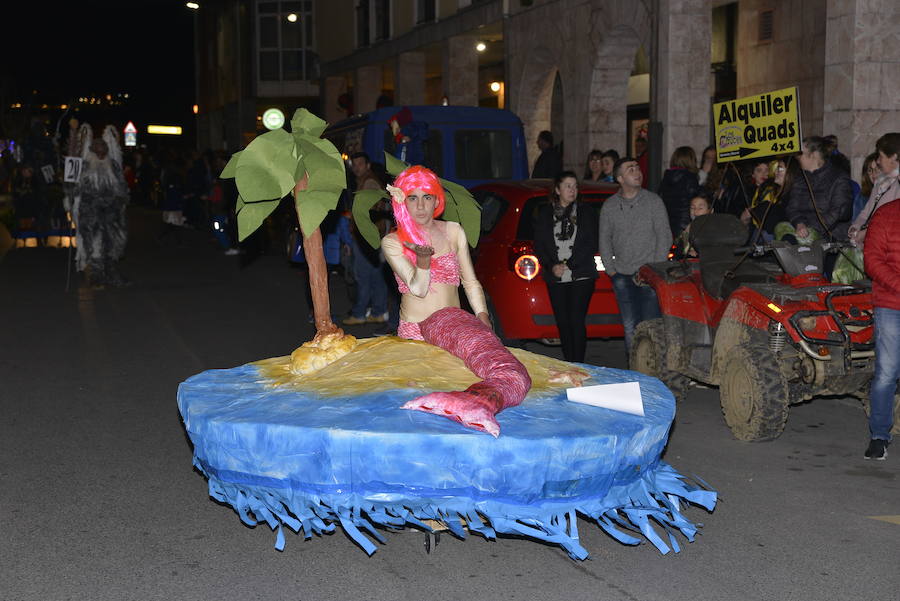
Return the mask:
<svg viewBox="0 0 900 601">
<path fill-rule="evenodd" d="M 481 382 L 464 391 L 432 392 L 401 407 L 442 415 L 467 428 L 500 436 L 494 416 L 515 407 L 531 389 L 525 366 L 510 353 L 489 327 L 456 307 L 433 313 L 419 323 L 425 342 L 439 346 L 463 360 Z"/>
</svg>

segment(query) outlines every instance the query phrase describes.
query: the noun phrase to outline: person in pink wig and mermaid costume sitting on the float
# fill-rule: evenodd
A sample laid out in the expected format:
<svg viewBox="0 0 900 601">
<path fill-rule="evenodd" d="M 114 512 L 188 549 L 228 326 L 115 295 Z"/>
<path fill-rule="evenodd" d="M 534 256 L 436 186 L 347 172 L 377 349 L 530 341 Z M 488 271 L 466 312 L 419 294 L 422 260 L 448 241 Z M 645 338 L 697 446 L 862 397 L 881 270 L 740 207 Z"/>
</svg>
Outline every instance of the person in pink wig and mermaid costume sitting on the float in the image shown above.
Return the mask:
<svg viewBox="0 0 900 601">
<path fill-rule="evenodd" d="M 475 277 L 462 227 L 435 219 L 445 203 L 438 177 L 413 166 L 394 184 L 388 191 L 397 229 L 385 236 L 382 246 L 403 295 L 397 334 L 443 348 L 482 378 L 465 391 L 433 392 L 403 408 L 442 415 L 499 436 L 494 415 L 521 403 L 531 378 L 491 330 L 484 290 Z M 460 283 L 475 316 L 459 308 Z"/>
</svg>

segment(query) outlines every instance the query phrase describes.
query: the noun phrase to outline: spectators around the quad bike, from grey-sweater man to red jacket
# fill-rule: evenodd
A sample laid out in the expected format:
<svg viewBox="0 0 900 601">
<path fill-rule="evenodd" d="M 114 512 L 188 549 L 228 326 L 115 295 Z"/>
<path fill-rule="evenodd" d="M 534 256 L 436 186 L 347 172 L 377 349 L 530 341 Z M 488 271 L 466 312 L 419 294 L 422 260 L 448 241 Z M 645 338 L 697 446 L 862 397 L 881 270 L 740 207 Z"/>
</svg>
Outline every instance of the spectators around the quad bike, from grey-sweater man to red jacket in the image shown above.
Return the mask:
<svg viewBox="0 0 900 601">
<path fill-rule="evenodd" d="M 603 181 L 603 156 L 589 153 L 585 181 Z M 900 377 L 900 133 L 878 139 L 858 182 L 835 136 L 804 138 L 797 154 L 728 164 L 716 163 L 712 148 L 704 149 L 698 164 L 694 149 L 682 146 L 672 153 L 658 194 L 642 188 L 646 179 L 637 159 L 617 161 L 612 176 L 620 187 L 603 203 L 598 250 L 613 282 L 626 348 L 637 324 L 659 314 L 653 290 L 641 290 L 633 276 L 641 265 L 665 260 L 663 249 L 673 237 L 675 258 L 696 256 L 688 234 L 699 215 L 734 215 L 747 228 L 747 242 L 850 245 L 826 255 L 824 275 L 837 283 L 871 280 L 876 353 L 864 457 L 885 459 Z M 555 246 L 566 250 L 561 242 Z M 546 249 L 543 254 L 542 262 L 567 260 Z M 567 285 L 556 275 L 547 276 L 548 286 Z M 559 320 L 556 304 L 554 311 Z"/>
</svg>

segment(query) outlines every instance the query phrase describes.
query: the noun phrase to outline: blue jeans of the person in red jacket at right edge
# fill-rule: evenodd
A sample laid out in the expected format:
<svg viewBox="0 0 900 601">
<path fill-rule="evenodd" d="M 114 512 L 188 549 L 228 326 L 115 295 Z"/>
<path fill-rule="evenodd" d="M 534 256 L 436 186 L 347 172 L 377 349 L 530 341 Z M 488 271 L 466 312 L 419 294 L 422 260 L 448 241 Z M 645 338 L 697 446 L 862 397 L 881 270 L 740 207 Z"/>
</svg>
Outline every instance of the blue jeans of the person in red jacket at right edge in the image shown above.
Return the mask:
<svg viewBox="0 0 900 601">
<path fill-rule="evenodd" d="M 869 391 L 872 438 L 891 439 L 897 378 L 900 378 L 900 311 L 875 307 L 875 376 Z"/>
</svg>

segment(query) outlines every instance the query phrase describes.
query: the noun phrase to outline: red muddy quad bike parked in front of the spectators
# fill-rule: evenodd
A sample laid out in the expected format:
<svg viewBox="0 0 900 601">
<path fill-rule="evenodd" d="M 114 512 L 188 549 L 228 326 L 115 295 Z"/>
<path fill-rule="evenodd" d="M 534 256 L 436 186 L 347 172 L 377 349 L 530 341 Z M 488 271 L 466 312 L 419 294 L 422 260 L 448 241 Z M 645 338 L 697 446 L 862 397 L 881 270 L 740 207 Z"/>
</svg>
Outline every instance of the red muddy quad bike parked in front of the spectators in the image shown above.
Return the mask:
<svg viewBox="0 0 900 601">
<path fill-rule="evenodd" d="M 792 404 L 819 395 L 867 400 L 875 364 L 871 286 L 823 277 L 823 253 L 846 244 L 739 248 L 746 239 L 732 215 L 698 217 L 691 242 L 699 259 L 640 269 L 637 281 L 654 288 L 663 317 L 637 327 L 630 361 L 676 398 L 689 379 L 719 386 L 734 437 L 771 440 Z"/>
</svg>

